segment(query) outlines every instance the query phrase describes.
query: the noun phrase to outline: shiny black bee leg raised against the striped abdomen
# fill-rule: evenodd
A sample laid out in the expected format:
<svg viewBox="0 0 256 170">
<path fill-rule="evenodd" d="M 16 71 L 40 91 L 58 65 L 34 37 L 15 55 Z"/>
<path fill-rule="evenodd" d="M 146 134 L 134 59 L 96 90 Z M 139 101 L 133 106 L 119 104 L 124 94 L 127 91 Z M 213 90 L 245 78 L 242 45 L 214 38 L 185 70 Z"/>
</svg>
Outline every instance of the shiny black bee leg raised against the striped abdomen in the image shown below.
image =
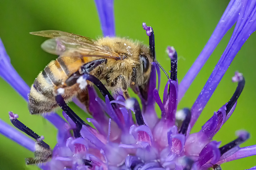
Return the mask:
<svg viewBox="0 0 256 170">
<path fill-rule="evenodd" d="M 76 84 L 76 80 L 80 76 L 82 76 L 83 74 L 90 74 L 90 72 L 93 69 L 98 67 L 101 63 L 105 63 L 105 62 L 107 62 L 106 58 L 100 58 L 100 59 L 93 60 L 93 61 L 90 61 L 88 63 L 85 63 L 84 65 L 82 65 L 80 67 L 80 69 L 78 71 L 71 74 L 69 76 L 69 78 L 65 81 L 65 83 L 67 84 L 67 86 L 72 86 L 72 85 Z"/>
</svg>

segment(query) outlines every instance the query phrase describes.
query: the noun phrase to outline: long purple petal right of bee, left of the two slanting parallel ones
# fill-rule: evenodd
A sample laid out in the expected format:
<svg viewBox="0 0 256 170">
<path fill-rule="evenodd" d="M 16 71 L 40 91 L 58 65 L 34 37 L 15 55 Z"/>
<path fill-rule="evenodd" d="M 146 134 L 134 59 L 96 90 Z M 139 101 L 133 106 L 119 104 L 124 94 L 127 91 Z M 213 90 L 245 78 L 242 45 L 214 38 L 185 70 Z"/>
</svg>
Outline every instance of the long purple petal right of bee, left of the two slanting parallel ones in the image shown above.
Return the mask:
<svg viewBox="0 0 256 170">
<path fill-rule="evenodd" d="M 180 82 L 178 102 L 180 102 L 183 95 L 188 90 L 189 86 L 192 84 L 197 74 L 199 73 L 199 71 L 204 66 L 205 62 L 212 54 L 213 50 L 217 47 L 222 37 L 236 23 L 240 8 L 241 0 L 231 0 L 229 2 L 226 10 L 224 11 L 222 17 L 220 18 L 219 23 L 217 24 L 215 30 L 213 31 L 212 36 L 204 46 L 204 49 L 197 57 L 196 61 L 188 70 L 187 74 Z"/>
</svg>

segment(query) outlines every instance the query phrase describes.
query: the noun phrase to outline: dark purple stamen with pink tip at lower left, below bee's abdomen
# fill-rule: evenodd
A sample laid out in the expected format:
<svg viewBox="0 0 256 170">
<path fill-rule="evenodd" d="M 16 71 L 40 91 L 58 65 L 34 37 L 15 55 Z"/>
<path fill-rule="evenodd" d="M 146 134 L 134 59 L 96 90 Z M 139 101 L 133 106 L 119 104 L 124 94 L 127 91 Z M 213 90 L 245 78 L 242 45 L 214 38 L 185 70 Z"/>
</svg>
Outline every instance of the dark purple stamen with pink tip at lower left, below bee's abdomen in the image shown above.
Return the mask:
<svg viewBox="0 0 256 170">
<path fill-rule="evenodd" d="M 17 119 L 17 117 L 19 117 L 17 114 L 13 114 L 12 112 L 9 112 L 9 117 L 10 117 L 12 124 L 17 129 L 21 130 L 22 132 L 25 132 L 28 136 L 36 139 L 38 144 L 42 145 L 44 148 L 50 149 L 50 146 L 48 144 L 46 144 L 39 135 L 37 135 L 33 130 L 29 129 L 26 125 L 24 125 Z"/>
</svg>

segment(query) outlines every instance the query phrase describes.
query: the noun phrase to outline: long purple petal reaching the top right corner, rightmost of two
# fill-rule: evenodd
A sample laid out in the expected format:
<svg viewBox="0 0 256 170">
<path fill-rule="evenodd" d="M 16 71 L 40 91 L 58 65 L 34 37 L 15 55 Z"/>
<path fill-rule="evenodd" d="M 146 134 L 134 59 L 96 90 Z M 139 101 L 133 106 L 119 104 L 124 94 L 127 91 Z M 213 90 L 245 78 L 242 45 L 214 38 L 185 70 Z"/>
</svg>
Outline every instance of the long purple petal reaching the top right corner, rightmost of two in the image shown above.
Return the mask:
<svg viewBox="0 0 256 170">
<path fill-rule="evenodd" d="M 205 105 L 209 101 L 212 93 L 215 91 L 221 78 L 227 71 L 229 65 L 235 58 L 237 52 L 241 49 L 244 42 L 256 30 L 256 1 L 242 1 L 242 8 L 238 17 L 235 30 L 231 36 L 228 46 L 221 55 L 219 62 L 212 71 L 211 76 L 207 80 L 204 88 L 197 97 L 191 108 L 192 119 L 191 127 L 195 124 L 197 118 L 201 114 Z"/>
</svg>

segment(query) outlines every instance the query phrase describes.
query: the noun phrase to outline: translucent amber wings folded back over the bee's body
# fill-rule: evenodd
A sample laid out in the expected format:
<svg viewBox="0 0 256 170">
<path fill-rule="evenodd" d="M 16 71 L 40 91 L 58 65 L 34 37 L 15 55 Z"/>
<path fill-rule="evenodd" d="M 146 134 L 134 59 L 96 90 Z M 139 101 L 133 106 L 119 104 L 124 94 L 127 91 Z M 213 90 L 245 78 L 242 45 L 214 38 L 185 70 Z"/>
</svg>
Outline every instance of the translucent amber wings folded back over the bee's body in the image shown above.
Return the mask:
<svg viewBox="0 0 256 170">
<path fill-rule="evenodd" d="M 81 35 L 55 30 L 38 31 L 31 34 L 52 38 L 44 41 L 41 45 L 46 52 L 51 54 L 62 55 L 65 53 L 65 56 L 121 59 L 117 53 L 110 52 L 97 45 L 95 40 Z"/>
</svg>

